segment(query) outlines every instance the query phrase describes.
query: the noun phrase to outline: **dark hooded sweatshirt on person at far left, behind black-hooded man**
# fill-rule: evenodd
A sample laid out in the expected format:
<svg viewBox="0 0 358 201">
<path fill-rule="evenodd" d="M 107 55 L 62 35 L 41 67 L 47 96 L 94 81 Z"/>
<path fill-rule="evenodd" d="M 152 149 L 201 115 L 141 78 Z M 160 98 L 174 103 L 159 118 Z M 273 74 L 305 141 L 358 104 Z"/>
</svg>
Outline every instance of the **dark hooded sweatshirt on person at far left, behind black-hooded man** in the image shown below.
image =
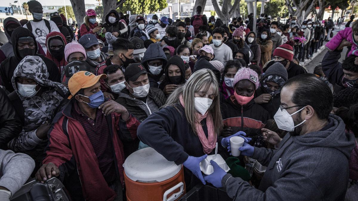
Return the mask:
<svg viewBox="0 0 358 201">
<path fill-rule="evenodd" d="M 19 26 L 21 26 L 19 20 L 15 19 L 15 18 L 6 18 L 4 20 L 4 31 L 5 31 L 5 35 L 8 38 L 8 42 L 5 43 L 3 46 L 0 47 L 0 63 L 3 62 L 6 58 L 9 58 L 11 56 L 14 56 L 14 50 L 13 50 L 13 44 L 11 43 L 11 35 L 9 33 L 9 31 L 6 29 L 6 25 L 10 22 L 13 21 L 16 24 L 19 24 Z M 44 50 L 42 49 L 41 45 L 39 43 L 37 43 L 38 45 L 38 53 L 45 55 Z"/>
</svg>

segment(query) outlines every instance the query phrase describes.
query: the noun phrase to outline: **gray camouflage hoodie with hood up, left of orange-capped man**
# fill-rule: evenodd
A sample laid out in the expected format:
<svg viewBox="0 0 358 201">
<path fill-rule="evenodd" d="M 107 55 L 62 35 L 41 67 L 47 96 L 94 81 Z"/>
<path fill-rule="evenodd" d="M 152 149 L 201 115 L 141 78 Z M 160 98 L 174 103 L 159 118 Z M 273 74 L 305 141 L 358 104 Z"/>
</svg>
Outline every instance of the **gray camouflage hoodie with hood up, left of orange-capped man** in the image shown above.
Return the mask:
<svg viewBox="0 0 358 201">
<path fill-rule="evenodd" d="M 21 96 L 15 82 L 16 77 L 26 77 L 35 80 L 43 90 L 42 95 L 34 95 L 29 98 Z M 26 56 L 15 69 L 11 82 L 23 103 L 25 122 L 19 136 L 8 144 L 9 148 L 14 151 L 31 150 L 42 142 L 36 136 L 37 128 L 45 123 L 45 121 L 52 122 L 57 107 L 63 100 L 63 97 L 56 89 L 59 87 L 64 94 L 67 93 L 67 88 L 64 85 L 52 82 L 48 80 L 48 77 L 49 73 L 47 72 L 46 65 L 38 56 Z"/>
</svg>

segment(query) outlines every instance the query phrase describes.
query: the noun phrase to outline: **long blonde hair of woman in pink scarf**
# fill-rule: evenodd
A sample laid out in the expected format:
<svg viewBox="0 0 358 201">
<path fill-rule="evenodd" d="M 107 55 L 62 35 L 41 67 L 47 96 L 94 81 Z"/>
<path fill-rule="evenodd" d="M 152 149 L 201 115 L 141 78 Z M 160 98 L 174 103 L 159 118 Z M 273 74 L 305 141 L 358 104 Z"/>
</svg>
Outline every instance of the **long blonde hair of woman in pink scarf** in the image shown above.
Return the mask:
<svg viewBox="0 0 358 201">
<path fill-rule="evenodd" d="M 220 111 L 220 100 L 219 100 L 219 84 L 216 79 L 215 74 L 209 69 L 201 69 L 193 73 L 190 76 L 189 80 L 182 86 L 175 89 L 175 91 L 170 94 L 169 98 L 166 100 L 166 103 L 163 107 L 173 106 L 176 109 L 176 104 L 179 103 L 180 95 L 183 96 L 183 101 L 185 104 L 184 111 L 188 123 L 190 124 L 193 132 L 196 133 L 195 123 L 198 121 L 195 107 L 194 107 L 194 98 L 195 92 L 204 87 L 204 92 L 207 92 L 210 88 L 214 89 L 214 99 L 208 111 L 211 113 L 213 118 L 213 126 L 215 135 L 218 136 L 221 133 L 223 128 L 223 122 Z M 179 109 L 178 109 L 179 111 Z"/>
</svg>

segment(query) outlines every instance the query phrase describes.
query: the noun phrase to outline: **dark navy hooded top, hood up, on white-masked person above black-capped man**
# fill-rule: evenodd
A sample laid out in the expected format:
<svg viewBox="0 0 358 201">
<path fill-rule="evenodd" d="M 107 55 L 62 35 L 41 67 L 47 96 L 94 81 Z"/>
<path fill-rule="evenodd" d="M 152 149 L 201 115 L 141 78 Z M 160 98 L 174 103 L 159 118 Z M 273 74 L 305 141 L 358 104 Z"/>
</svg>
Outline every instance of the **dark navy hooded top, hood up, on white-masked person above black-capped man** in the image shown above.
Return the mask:
<svg viewBox="0 0 358 201">
<path fill-rule="evenodd" d="M 162 67 L 163 69 L 161 70 L 161 72 L 158 75 L 153 75 L 150 72 L 149 66 L 148 66 L 148 62 L 151 60 L 155 60 L 155 59 L 160 59 L 163 61 L 163 67 Z M 160 45 L 156 44 L 156 43 L 150 44 L 142 58 L 142 64 L 144 65 L 145 69 L 148 72 L 150 87 L 158 88 L 158 86 L 159 86 L 158 82 L 160 80 L 161 75 L 163 75 L 163 73 L 164 73 L 164 70 L 165 70 L 164 67 L 166 66 L 167 62 L 168 62 L 168 60 L 166 60 L 166 55 L 165 55 L 163 49 L 160 47 Z"/>
</svg>

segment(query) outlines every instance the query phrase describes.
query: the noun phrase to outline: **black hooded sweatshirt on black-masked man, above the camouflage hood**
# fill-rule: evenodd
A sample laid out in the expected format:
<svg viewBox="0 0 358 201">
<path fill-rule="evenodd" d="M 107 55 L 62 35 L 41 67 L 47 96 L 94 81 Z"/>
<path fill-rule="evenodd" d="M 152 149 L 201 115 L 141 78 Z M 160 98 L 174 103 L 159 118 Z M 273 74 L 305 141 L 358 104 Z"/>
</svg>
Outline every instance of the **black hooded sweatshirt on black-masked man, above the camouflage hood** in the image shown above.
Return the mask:
<svg viewBox="0 0 358 201">
<path fill-rule="evenodd" d="M 18 27 L 14 30 L 13 34 L 11 35 L 11 43 L 14 44 L 13 45 L 14 56 L 5 59 L 4 62 L 1 62 L 0 64 L 1 85 L 4 85 L 6 90 L 8 90 L 9 92 L 14 91 L 13 84 L 11 83 L 11 78 L 13 77 L 14 71 L 18 66 L 18 64 L 20 63 L 21 59 L 23 59 L 20 57 L 19 52 L 17 50 L 18 39 L 20 37 L 25 37 L 25 36 L 30 36 L 34 39 L 34 41 L 36 41 L 35 36 L 31 33 L 30 30 L 23 27 Z M 35 52 L 37 52 L 37 50 L 38 50 L 38 45 L 35 45 Z M 47 68 L 47 72 L 49 74 L 48 79 L 51 80 L 52 82 L 61 82 L 60 80 L 61 74 L 56 64 L 42 54 L 35 53 L 35 56 L 40 57 L 45 63 L 44 66 Z"/>
</svg>

